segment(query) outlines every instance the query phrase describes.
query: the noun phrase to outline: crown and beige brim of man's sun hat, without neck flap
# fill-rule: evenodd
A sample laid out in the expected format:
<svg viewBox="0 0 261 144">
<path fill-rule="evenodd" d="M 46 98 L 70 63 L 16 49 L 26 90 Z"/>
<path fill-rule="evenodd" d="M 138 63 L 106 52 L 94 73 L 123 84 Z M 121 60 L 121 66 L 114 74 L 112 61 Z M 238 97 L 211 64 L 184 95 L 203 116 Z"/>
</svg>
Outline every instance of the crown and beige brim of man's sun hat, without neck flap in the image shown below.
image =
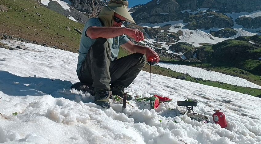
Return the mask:
<svg viewBox="0 0 261 144">
<path fill-rule="evenodd" d="M 128 1 L 127 0 L 110 0 L 108 8 L 115 13 L 118 13 L 126 19 L 127 22 L 135 24 L 135 21 L 131 17 L 128 11 Z"/>
</svg>

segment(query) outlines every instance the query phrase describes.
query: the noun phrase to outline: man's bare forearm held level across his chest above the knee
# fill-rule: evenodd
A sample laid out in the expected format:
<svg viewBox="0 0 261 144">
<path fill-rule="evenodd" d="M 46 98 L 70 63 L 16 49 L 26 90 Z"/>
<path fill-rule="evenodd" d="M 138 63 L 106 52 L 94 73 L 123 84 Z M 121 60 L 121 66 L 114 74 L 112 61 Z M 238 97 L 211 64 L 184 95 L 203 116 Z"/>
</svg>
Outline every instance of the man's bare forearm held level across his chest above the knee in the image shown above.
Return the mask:
<svg viewBox="0 0 261 144">
<path fill-rule="evenodd" d="M 97 39 L 99 37 L 110 39 L 116 36 L 123 35 L 125 33 L 124 28 L 117 28 L 117 27 L 90 27 L 86 31 L 87 36 L 91 39 Z"/>
</svg>

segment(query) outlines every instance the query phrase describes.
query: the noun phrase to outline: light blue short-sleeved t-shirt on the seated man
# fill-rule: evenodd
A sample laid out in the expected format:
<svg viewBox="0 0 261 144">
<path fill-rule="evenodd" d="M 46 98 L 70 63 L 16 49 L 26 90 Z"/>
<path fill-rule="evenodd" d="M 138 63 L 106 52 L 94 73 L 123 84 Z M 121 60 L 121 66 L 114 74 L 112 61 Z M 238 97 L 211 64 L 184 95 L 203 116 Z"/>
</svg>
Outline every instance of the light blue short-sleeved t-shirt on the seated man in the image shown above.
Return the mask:
<svg viewBox="0 0 261 144">
<path fill-rule="evenodd" d="M 86 30 L 91 26 L 103 27 L 102 22 L 98 18 L 90 18 L 84 25 L 82 31 L 82 37 L 79 47 L 79 56 L 77 70 L 78 73 L 82 67 L 82 62 L 85 60 L 87 52 L 89 51 L 91 45 L 95 42 L 96 39 L 91 39 L 86 35 Z M 125 35 L 116 36 L 114 38 L 107 39 L 110 44 L 110 61 L 114 61 L 118 57 L 120 45 L 125 44 L 129 39 Z"/>
</svg>

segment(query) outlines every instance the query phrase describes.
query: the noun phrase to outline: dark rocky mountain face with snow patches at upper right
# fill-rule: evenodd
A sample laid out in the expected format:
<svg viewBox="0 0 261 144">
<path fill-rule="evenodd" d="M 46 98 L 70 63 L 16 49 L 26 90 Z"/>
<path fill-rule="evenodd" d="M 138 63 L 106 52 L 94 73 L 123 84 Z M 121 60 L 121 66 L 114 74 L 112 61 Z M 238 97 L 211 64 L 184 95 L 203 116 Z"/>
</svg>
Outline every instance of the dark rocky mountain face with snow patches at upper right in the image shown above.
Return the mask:
<svg viewBox="0 0 261 144">
<path fill-rule="evenodd" d="M 190 30 L 209 28 L 231 28 L 234 21 L 226 13 L 254 12 L 261 10 L 261 0 L 152 0 L 145 5 L 130 9 L 137 23 L 163 23 L 179 21 L 188 23 Z M 260 18 L 237 21 L 246 28 L 259 28 Z"/>
</svg>

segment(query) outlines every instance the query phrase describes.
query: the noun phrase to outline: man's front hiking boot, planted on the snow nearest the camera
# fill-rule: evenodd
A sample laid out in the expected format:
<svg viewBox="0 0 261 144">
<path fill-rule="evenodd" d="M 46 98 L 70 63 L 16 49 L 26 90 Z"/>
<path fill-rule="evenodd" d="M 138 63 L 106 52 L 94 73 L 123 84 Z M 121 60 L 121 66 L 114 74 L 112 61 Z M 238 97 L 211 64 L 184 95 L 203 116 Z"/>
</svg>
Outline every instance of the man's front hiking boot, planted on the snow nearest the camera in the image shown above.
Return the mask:
<svg viewBox="0 0 261 144">
<path fill-rule="evenodd" d="M 109 99 L 110 99 L 109 90 L 101 89 L 94 94 L 94 103 L 103 108 L 110 108 Z"/>
</svg>

